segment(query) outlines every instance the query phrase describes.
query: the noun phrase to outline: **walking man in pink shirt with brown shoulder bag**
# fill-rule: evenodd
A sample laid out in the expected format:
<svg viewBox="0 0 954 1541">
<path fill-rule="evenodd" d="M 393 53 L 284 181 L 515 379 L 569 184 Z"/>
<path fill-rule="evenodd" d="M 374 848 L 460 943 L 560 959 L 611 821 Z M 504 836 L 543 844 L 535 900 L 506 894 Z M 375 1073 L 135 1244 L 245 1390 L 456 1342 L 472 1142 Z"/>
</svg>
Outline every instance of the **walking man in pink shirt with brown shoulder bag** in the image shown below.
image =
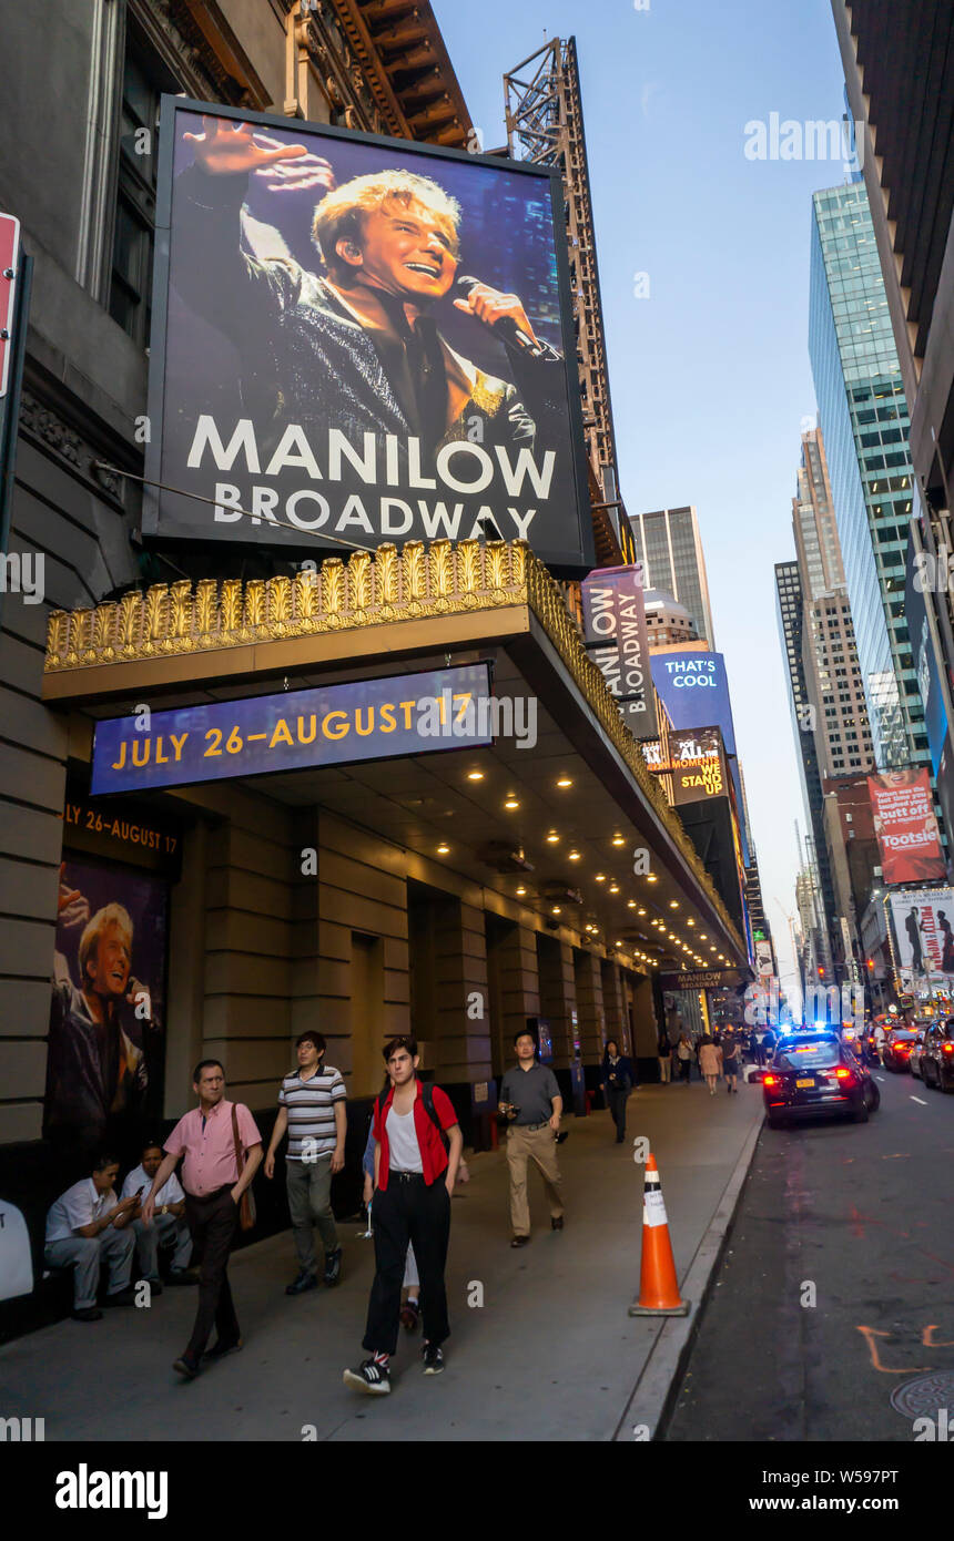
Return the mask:
<svg viewBox="0 0 954 1541">
<path fill-rule="evenodd" d="M 142 1207 L 145 1225 L 151 1225 L 156 1194 L 173 1174 L 180 1156 L 185 1217 L 193 1233 L 193 1264 L 199 1265 L 199 1308 L 188 1347 L 173 1368 L 193 1381 L 205 1345 L 216 1324 L 216 1342 L 207 1358 L 222 1359 L 242 1347 L 239 1319 L 228 1284 L 228 1253 L 239 1220 L 239 1202 L 259 1162 L 262 1136 L 247 1106 L 225 1100 L 225 1069 L 219 1060 L 200 1060 L 193 1074 L 193 1091 L 199 1106 L 179 1119 L 165 1142 L 162 1167 Z M 236 1125 L 244 1165 L 239 1173 Z"/>
</svg>

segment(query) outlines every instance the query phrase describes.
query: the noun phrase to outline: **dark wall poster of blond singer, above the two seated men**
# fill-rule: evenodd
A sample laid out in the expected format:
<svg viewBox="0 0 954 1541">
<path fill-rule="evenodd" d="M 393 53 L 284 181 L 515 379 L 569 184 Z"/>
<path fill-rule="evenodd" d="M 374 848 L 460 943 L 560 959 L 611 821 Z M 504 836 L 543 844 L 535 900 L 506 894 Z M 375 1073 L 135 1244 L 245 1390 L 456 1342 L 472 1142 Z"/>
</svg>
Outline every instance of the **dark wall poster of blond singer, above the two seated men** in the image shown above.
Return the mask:
<svg viewBox="0 0 954 1541">
<path fill-rule="evenodd" d="M 166 889 L 148 874 L 60 868 L 43 1133 L 72 1151 L 125 1147 L 157 1111 Z"/>
</svg>

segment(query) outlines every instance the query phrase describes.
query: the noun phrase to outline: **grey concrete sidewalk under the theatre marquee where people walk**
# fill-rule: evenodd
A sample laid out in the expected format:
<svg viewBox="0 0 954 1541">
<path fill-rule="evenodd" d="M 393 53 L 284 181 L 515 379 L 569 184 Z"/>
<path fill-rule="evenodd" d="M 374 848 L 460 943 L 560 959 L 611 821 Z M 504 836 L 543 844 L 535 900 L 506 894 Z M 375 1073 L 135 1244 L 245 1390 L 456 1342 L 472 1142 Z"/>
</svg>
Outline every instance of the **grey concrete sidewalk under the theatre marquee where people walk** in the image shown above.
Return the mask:
<svg viewBox="0 0 954 1541">
<path fill-rule="evenodd" d="M 365 1358 L 373 1274 L 373 1244 L 358 1239 L 351 1222 L 341 1227 L 344 1277 L 334 1291 L 285 1298 L 294 1274 L 288 1233 L 233 1259 L 245 1348 L 197 1381 L 183 1384 L 171 1368 L 190 1333 L 194 1291 L 166 1290 L 149 1310 L 113 1311 L 96 1325 L 59 1322 L 2 1347 L 0 1413 L 45 1418 L 48 1441 L 301 1441 L 305 1425 L 322 1441 L 632 1439 L 633 1421 L 653 1422 L 646 1407 L 664 1396 L 689 1325 L 627 1316 L 643 1217 L 632 1140 L 649 1136 L 657 1156 L 695 1316 L 700 1273 L 707 1277 L 715 1261 L 714 1216 L 760 1123 L 761 1088 L 729 1097 L 720 1083 L 709 1097 L 697 1082 L 632 1096 L 626 1145 L 613 1143 L 609 1113 L 570 1119 L 559 1150 L 566 1228 L 550 1230 L 532 1171 L 533 1241 L 522 1251 L 507 1245 L 502 1151 L 473 1156 L 472 1180 L 453 1200 L 447 1368 L 424 1376 L 421 1335 L 402 1331 L 388 1398 L 362 1398 L 341 1381 L 345 1365 Z M 695 1296 L 686 1290 L 690 1270 Z M 467 1304 L 475 1284 L 482 1307 Z"/>
</svg>

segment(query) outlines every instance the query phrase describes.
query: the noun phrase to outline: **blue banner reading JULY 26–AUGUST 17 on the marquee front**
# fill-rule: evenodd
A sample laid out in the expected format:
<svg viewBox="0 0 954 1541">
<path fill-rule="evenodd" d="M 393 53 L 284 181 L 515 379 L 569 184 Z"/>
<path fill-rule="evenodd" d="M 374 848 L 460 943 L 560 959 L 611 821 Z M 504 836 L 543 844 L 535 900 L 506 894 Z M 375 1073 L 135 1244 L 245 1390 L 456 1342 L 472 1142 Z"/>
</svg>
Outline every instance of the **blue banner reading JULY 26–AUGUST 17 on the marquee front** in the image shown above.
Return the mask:
<svg viewBox="0 0 954 1541">
<path fill-rule="evenodd" d="M 493 743 L 489 664 L 111 717 L 96 724 L 94 797 L 391 760 Z M 140 726 L 142 723 L 142 726 Z"/>
</svg>

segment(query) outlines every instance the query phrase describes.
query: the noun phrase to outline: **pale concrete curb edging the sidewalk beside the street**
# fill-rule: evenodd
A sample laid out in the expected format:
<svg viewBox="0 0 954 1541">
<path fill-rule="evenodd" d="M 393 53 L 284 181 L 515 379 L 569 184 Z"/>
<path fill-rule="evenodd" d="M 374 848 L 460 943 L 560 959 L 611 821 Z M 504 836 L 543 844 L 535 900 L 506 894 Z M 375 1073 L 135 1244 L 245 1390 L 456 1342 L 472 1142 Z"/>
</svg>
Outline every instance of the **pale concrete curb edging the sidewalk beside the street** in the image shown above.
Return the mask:
<svg viewBox="0 0 954 1541">
<path fill-rule="evenodd" d="M 763 1116 L 760 1111 L 758 1120 L 752 1125 L 749 1134 L 746 1136 L 741 1154 L 732 1170 L 729 1182 L 723 1190 L 715 1214 L 712 1216 L 709 1227 L 695 1250 L 692 1262 L 689 1264 L 689 1271 L 686 1277 L 680 1281 L 681 1296 L 692 1302 L 689 1316 L 674 1316 L 660 1327 L 657 1341 L 649 1350 L 640 1379 L 637 1381 L 632 1396 L 616 1425 L 616 1432 L 613 1435 L 613 1441 L 616 1442 L 632 1442 L 632 1430 L 637 1424 L 646 1425 L 649 1430 L 646 1436 L 647 1439 L 657 1439 L 660 1429 L 663 1427 L 663 1421 L 670 1412 L 670 1404 L 683 1379 L 689 1355 L 695 1342 L 703 1307 L 706 1305 L 706 1299 L 709 1296 L 709 1284 L 735 1216 L 743 1183 L 749 1174 L 749 1167 L 752 1163 L 752 1156 L 755 1154 L 755 1145 L 758 1142 L 758 1136 L 761 1134 L 761 1126 Z"/>
</svg>

